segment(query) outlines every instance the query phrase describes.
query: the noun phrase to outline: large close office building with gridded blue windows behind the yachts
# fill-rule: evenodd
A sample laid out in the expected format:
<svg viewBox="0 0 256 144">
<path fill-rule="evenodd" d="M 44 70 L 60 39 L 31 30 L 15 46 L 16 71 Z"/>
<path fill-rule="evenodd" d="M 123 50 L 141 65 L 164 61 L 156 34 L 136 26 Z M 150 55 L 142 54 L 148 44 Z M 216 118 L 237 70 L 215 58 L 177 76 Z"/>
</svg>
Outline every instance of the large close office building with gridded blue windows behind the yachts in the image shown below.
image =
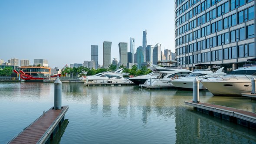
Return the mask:
<svg viewBox="0 0 256 144">
<path fill-rule="evenodd" d="M 256 0 L 175 0 L 175 52 L 181 66 L 242 67 L 255 58 Z"/>
</svg>

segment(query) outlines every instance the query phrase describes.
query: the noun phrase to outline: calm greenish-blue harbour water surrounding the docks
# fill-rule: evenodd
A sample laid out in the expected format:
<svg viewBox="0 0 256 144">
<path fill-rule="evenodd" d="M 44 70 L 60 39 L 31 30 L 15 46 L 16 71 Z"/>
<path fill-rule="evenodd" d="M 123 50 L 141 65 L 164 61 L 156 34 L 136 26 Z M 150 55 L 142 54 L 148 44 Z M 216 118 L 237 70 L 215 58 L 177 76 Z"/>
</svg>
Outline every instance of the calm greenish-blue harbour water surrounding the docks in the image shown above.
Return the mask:
<svg viewBox="0 0 256 144">
<path fill-rule="evenodd" d="M 61 144 L 256 143 L 256 131 L 184 105 L 192 91 L 62 84 L 69 105 Z M 0 144 L 51 108 L 54 84 L 0 83 Z M 256 112 L 256 101 L 200 92 L 200 101 Z"/>
</svg>

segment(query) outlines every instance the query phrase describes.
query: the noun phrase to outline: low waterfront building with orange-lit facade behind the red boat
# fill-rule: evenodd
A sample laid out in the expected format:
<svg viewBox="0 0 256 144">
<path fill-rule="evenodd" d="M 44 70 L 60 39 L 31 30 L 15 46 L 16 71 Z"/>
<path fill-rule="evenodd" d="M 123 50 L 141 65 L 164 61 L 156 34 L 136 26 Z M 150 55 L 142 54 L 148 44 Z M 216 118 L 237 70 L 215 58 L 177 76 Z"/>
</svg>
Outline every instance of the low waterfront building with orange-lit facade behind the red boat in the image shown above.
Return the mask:
<svg viewBox="0 0 256 144">
<path fill-rule="evenodd" d="M 45 66 L 21 66 L 20 70 L 25 74 L 37 77 L 46 77 L 51 74 L 51 68 Z"/>
</svg>

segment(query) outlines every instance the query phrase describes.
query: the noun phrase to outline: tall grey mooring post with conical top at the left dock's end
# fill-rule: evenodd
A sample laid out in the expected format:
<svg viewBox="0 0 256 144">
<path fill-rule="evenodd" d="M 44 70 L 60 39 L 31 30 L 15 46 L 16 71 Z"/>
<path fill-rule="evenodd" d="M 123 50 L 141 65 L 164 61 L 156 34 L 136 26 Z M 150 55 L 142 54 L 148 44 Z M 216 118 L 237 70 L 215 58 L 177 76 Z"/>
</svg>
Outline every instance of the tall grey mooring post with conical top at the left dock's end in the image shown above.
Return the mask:
<svg viewBox="0 0 256 144">
<path fill-rule="evenodd" d="M 57 77 L 54 82 L 54 109 L 61 109 L 61 90 L 62 90 L 62 82 Z"/>
</svg>

